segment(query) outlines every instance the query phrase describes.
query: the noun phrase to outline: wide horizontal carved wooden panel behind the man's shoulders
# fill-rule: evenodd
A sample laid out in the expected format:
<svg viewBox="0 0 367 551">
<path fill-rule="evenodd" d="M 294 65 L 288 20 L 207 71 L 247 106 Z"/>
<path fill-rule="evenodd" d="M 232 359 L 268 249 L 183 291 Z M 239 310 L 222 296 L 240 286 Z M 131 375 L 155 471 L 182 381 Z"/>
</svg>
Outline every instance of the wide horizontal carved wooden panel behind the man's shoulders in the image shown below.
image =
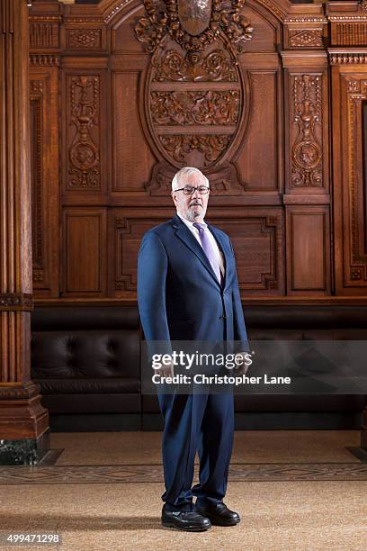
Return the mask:
<svg viewBox="0 0 367 551">
<path fill-rule="evenodd" d="M 129 298 L 137 285 L 140 241 L 152 225 L 168 220 L 172 208 L 113 209 L 109 221 L 109 257 L 115 258 L 110 293 Z M 237 257 L 240 290 L 246 295 L 284 293 L 283 221 L 281 208 L 211 207 L 209 223 L 226 231 Z"/>
</svg>

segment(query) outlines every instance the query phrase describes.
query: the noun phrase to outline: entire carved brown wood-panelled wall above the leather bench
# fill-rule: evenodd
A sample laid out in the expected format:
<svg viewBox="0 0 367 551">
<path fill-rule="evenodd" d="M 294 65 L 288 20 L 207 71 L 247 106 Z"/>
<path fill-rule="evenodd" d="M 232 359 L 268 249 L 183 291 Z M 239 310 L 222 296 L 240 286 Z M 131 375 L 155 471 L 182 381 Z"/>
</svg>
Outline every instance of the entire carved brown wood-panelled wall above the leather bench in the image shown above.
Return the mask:
<svg viewBox="0 0 367 551">
<path fill-rule="evenodd" d="M 210 178 L 244 297 L 365 293 L 363 6 L 35 2 L 38 296 L 134 299 L 139 241 L 187 164 Z"/>
</svg>

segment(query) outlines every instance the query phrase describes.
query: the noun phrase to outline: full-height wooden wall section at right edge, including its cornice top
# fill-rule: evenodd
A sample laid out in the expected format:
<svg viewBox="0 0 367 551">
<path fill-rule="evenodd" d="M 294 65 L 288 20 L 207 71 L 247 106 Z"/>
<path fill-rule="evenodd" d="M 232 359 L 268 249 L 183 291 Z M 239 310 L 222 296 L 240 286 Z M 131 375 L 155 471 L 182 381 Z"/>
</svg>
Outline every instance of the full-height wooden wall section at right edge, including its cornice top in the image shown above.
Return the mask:
<svg viewBox="0 0 367 551">
<path fill-rule="evenodd" d="M 367 98 L 366 2 L 327 5 L 332 76 L 336 294 L 366 295 L 366 171 L 363 102 Z M 364 128 L 363 128 L 364 127 Z M 364 150 L 363 150 L 364 149 Z M 364 160 L 364 163 L 363 163 Z M 364 165 L 364 166 L 363 166 Z"/>
</svg>

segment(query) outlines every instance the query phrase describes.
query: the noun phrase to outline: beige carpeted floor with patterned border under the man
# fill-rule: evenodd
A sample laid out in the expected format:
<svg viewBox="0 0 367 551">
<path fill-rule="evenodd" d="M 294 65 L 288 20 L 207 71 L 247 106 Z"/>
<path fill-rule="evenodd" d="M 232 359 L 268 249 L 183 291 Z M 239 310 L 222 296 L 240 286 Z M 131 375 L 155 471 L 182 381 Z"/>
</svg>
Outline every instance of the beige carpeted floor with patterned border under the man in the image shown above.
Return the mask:
<svg viewBox="0 0 367 551">
<path fill-rule="evenodd" d="M 56 465 L 0 467 L 0 533 L 55 533 L 21 549 L 364 551 L 367 464 L 358 431 L 237 432 L 226 502 L 242 521 L 162 528 L 158 433 L 57 433 Z M 139 479 L 140 477 L 140 479 Z M 0 548 L 11 549 L 13 546 Z"/>
</svg>

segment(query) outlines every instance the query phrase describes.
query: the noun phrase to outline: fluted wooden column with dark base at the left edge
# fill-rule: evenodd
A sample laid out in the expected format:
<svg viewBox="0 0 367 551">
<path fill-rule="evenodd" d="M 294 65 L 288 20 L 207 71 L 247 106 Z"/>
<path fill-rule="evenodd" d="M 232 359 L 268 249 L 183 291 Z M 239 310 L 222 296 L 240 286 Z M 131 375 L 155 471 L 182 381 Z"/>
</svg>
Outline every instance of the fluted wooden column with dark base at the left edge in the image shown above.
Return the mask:
<svg viewBox="0 0 367 551">
<path fill-rule="evenodd" d="M 0 4 L 0 464 L 35 464 L 49 413 L 31 382 L 31 166 L 27 0 Z"/>
</svg>

